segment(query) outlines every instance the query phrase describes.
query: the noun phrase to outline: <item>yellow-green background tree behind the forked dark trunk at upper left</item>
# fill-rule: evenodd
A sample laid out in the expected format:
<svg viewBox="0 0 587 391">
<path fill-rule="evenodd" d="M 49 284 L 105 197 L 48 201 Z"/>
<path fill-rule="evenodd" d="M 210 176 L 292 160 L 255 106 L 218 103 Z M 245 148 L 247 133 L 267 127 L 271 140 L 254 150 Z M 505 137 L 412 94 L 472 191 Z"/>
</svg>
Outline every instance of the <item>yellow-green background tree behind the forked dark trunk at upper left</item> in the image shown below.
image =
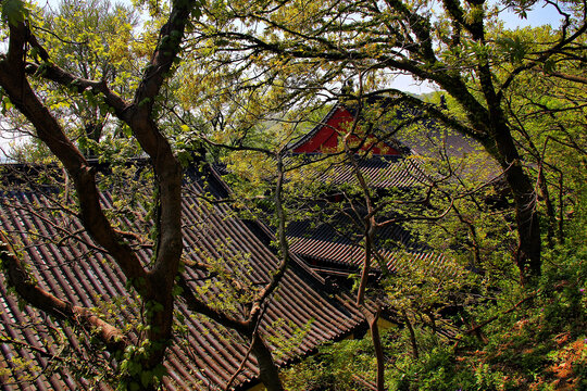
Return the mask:
<svg viewBox="0 0 587 391">
<path fill-rule="evenodd" d="M 41 26 L 35 35 L 47 48 L 52 64 L 84 79 L 103 80 L 123 99 L 132 98 L 140 75 L 138 64 L 145 60 L 154 39 L 149 36 L 152 34 L 149 29 L 141 36 L 136 31 L 137 14 L 133 9 L 120 4 L 113 7 L 109 0 L 64 0 L 57 11 L 35 9 L 30 17 L 34 25 Z M 37 53 L 38 50 L 33 48 L 28 56 L 39 66 L 36 76 L 41 76 L 47 63 L 40 61 Z M 124 137 L 124 125 L 112 118 L 112 109 L 103 94 L 91 89 L 79 91 L 75 80 L 68 88 L 40 77 L 33 83 L 83 153 L 104 161 L 139 153 L 136 141 Z M 35 134 L 28 129 L 28 124 L 22 124 L 21 116 L 5 100 L 2 112 L 8 112 L 4 121 L 14 128 Z M 25 139 L 23 146 L 13 149 L 10 157 L 37 162 L 48 155 L 49 151 L 36 139 Z"/>
</svg>

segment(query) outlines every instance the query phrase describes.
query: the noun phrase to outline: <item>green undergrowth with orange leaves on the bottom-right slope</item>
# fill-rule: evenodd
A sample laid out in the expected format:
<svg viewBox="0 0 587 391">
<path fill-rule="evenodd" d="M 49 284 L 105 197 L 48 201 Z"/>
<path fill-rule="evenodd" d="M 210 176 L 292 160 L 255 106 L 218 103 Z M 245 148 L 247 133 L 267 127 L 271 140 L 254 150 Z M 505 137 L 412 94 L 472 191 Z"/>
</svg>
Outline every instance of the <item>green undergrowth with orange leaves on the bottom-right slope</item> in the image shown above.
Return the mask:
<svg viewBox="0 0 587 391">
<path fill-rule="evenodd" d="M 496 281 L 499 285 L 494 287 L 479 286 L 477 292 L 491 294 L 491 299 L 470 302 L 463 308 L 462 316 L 470 320 L 453 321 L 460 327 L 460 333 L 453 338 L 435 333 L 427 323 L 417 324 L 417 316 L 413 317 L 419 358 L 411 354 L 411 338 L 405 327 L 388 330 L 383 341 L 389 390 L 584 389 L 587 386 L 587 243 L 580 230 L 584 224 L 584 217 L 574 220 L 572 230 L 576 229 L 577 235 L 546 254 L 545 273 L 532 290 L 521 289 L 511 280 Z M 486 320 L 490 321 L 482 328 L 480 339 L 466 332 Z M 447 324 L 439 326 L 442 327 Z M 374 378 L 369 343 L 369 338 L 346 340 L 321 349 L 319 355 L 286 373 L 289 389 L 360 389 L 352 383 L 352 376 Z M 347 371 L 342 374 L 344 370 Z"/>
</svg>

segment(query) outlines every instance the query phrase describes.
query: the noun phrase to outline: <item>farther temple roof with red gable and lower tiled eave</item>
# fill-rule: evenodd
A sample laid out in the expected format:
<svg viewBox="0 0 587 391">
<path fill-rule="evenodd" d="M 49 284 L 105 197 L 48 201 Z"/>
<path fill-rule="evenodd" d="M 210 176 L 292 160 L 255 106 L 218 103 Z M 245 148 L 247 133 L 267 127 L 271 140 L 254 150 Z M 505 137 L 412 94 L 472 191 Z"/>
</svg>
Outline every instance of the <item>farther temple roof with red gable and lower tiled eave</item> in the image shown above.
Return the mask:
<svg viewBox="0 0 587 391">
<path fill-rule="evenodd" d="M 354 160 L 367 186 L 377 191 L 403 191 L 407 194 L 413 189 L 425 188 L 432 182 L 434 173 L 424 167 L 425 161 L 440 159 L 457 159 L 461 161 L 469 154 L 480 150 L 474 140 L 441 126 L 437 121 L 423 116 L 421 111 L 405 104 L 398 105 L 392 98 L 370 97 L 365 100 L 365 110 L 373 113 L 359 114 L 358 104 L 337 103 L 327 115 L 308 134 L 300 137 L 289 148 L 295 156 L 304 156 L 309 161 L 319 161 L 327 154 L 336 157 L 336 147 L 341 135 L 348 131 L 349 124 L 358 117 L 359 125 L 372 129 L 363 135 L 365 141 L 358 149 Z M 364 112 L 364 111 L 363 111 Z M 371 115 L 370 115 L 371 114 Z M 371 125 L 369 124 L 371 122 Z M 367 123 L 366 125 L 360 125 Z M 411 124 L 415 127 L 402 127 L 398 124 Z M 386 137 L 395 127 L 401 129 Z M 387 149 L 386 149 L 387 148 Z M 338 163 L 332 163 L 328 168 L 304 173 L 308 178 L 323 182 L 325 191 L 336 192 L 337 187 L 358 185 L 353 166 L 340 155 Z M 494 178 L 495 165 L 483 159 L 490 169 L 484 177 Z M 324 164 L 323 164 L 324 165 Z M 454 164 L 457 172 L 465 173 L 471 164 Z M 479 175 L 476 171 L 473 175 Z M 353 207 L 357 207 L 353 206 Z M 363 211 L 366 215 L 366 212 Z M 303 257 L 316 270 L 327 273 L 357 272 L 360 269 L 364 250 L 361 241 L 362 222 L 346 222 L 346 213 L 333 211 L 327 220 L 310 223 L 309 220 L 292 222 L 288 228 L 291 251 Z M 389 216 L 387 216 L 389 217 Z M 354 235 L 348 236 L 340 229 L 333 228 L 333 222 L 338 227 L 345 227 Z M 394 224 L 377 230 L 379 255 L 386 260 L 387 268 L 400 270 L 408 264 L 419 263 L 432 273 L 451 273 L 453 267 L 442 254 L 433 253 L 424 243 L 419 242 L 414 235 L 400 224 Z M 448 266 L 450 265 L 450 266 Z"/>
</svg>

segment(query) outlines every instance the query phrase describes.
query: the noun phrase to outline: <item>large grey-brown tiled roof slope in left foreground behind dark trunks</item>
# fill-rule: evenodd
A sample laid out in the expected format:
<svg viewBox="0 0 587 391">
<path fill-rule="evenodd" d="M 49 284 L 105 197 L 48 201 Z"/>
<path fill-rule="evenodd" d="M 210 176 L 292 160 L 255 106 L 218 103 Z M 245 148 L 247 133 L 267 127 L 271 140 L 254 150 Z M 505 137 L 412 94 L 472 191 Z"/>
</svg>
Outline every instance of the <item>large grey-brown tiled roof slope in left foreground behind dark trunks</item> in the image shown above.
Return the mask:
<svg viewBox="0 0 587 391">
<path fill-rule="evenodd" d="M 209 177 L 205 188 L 212 194 L 224 191 L 215 176 Z M 187 175 L 184 198 L 185 257 L 209 262 L 210 258 L 249 260 L 246 267 L 239 262 L 227 262 L 236 274 L 241 274 L 249 282 L 266 281 L 277 265 L 274 253 L 263 243 L 263 230 L 254 223 L 245 223 L 230 216 L 223 204 L 202 206 L 198 197 L 204 191 L 199 175 Z M 125 278 L 116 266 L 91 238 L 83 230 L 77 218 L 55 212 L 50 193 L 13 189 L 1 194 L 0 225 L 10 234 L 14 242 L 21 244 L 22 254 L 30 272 L 40 285 L 50 292 L 74 304 L 87 307 L 117 306 L 118 326 L 136 321 L 137 313 L 133 300 L 124 288 Z M 112 206 L 112 197 L 102 194 L 105 207 Z M 53 212 L 51 212 L 53 211 Z M 145 211 L 138 211 L 145 217 Z M 135 224 L 125 220 L 130 228 Z M 79 230 L 79 240 L 64 239 L 55 243 L 48 238 L 62 238 L 63 228 Z M 149 261 L 149 250 L 140 251 L 145 262 Z M 203 287 L 207 279 L 189 267 L 186 277 L 193 285 Z M 207 293 L 214 297 L 214 288 Z M 186 326 L 168 349 L 165 366 L 167 390 L 224 389 L 247 352 L 234 332 L 223 328 L 204 316 L 190 313 L 182 301 L 176 304 Z M 89 383 L 75 379 L 68 373 L 57 371 L 47 375 L 41 369 L 50 364 L 49 355 L 57 354 L 63 344 L 78 346 L 73 329 L 51 319 L 33 307 L 20 307 L 17 299 L 7 292 L 5 281 L 0 274 L 0 390 L 78 390 L 88 389 Z M 328 286 L 305 266 L 294 261 L 287 270 L 280 288 L 271 299 L 265 311 L 261 330 L 270 341 L 292 338 L 307 329 L 307 335 L 297 342 L 294 351 L 278 357 L 279 365 L 296 355 L 303 355 L 327 340 L 344 338 L 361 323 L 361 315 L 328 293 Z M 63 329 L 64 340 L 55 340 L 52 329 Z M 16 340 L 21 344 L 7 341 Z M 24 344 L 23 344 L 24 343 Z M 278 343 L 278 342 L 275 342 Z M 33 349 L 25 349 L 30 345 Z M 279 348 L 279 346 L 277 346 Z M 15 369 L 16 363 L 29 362 L 27 370 Z M 25 381 L 18 381 L 24 379 Z M 257 382 L 257 367 L 249 358 L 245 370 L 236 380 L 237 388 Z M 104 384 L 101 389 L 108 389 Z"/>
</svg>

